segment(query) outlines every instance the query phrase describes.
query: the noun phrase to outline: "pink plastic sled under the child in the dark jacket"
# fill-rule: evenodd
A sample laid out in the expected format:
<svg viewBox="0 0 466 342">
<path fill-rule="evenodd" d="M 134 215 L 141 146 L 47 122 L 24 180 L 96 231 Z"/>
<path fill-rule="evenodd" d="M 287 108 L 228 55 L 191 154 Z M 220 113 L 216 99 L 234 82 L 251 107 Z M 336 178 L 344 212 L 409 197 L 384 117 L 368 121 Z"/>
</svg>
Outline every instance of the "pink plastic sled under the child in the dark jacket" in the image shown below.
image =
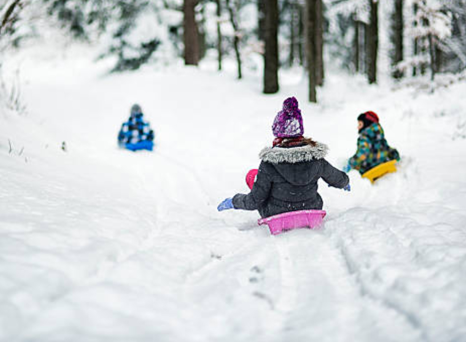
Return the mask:
<svg viewBox="0 0 466 342">
<path fill-rule="evenodd" d="M 322 219 L 327 215 L 325 210 L 299 210 L 261 218 L 257 221 L 259 225 L 267 224 L 270 233 L 280 234 L 283 230 L 295 228 L 315 228 L 322 223 Z"/>
</svg>

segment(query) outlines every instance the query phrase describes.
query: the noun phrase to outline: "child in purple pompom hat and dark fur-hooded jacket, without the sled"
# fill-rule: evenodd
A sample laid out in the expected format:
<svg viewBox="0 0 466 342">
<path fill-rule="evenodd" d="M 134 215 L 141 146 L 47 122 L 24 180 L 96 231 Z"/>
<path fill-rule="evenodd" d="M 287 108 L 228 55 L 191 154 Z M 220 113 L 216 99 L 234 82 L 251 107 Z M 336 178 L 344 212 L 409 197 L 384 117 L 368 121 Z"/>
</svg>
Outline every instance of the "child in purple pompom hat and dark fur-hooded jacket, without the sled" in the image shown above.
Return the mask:
<svg viewBox="0 0 466 342">
<path fill-rule="evenodd" d="M 298 101 L 287 98 L 272 126 L 273 147 L 265 147 L 259 154 L 258 170 L 251 170 L 247 182 L 251 192 L 227 198 L 218 210 L 258 210 L 261 217 L 290 211 L 322 209 L 317 193 L 317 181 L 322 178 L 329 186 L 349 191 L 348 176 L 334 168 L 324 158 L 328 147 L 303 137 L 301 111 Z M 248 177 L 256 174 L 252 181 Z"/>
</svg>

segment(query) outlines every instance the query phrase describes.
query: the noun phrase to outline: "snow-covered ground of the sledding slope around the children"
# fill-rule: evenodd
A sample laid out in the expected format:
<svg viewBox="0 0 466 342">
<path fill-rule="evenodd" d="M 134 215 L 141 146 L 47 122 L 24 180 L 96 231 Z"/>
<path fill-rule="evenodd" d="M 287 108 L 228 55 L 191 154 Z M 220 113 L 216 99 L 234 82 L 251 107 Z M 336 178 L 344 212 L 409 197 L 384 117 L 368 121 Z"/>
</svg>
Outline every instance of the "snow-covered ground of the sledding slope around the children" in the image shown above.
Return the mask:
<svg viewBox="0 0 466 342">
<path fill-rule="evenodd" d="M 68 54 L 18 56 L 28 114 L 0 113 L 0 341 L 466 341 L 466 84 L 331 73 L 310 105 L 295 71 L 265 96 L 209 64 L 108 76 Z M 322 229 L 274 237 L 216 206 L 292 95 L 334 165 L 366 110 L 403 161 L 373 186 L 352 171 L 350 193 L 322 183 Z M 117 148 L 133 102 L 154 153 Z"/>
</svg>

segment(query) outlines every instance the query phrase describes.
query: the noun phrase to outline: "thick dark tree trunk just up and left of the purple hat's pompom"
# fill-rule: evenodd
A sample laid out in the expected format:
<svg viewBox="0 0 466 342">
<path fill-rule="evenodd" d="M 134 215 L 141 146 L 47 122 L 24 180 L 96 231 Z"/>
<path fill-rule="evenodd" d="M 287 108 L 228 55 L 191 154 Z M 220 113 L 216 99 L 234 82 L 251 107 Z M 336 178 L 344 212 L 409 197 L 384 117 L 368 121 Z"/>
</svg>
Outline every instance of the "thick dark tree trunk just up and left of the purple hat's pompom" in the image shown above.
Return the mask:
<svg viewBox="0 0 466 342">
<path fill-rule="evenodd" d="M 267 0 L 265 8 L 264 94 L 278 91 L 278 1 Z"/>
</svg>

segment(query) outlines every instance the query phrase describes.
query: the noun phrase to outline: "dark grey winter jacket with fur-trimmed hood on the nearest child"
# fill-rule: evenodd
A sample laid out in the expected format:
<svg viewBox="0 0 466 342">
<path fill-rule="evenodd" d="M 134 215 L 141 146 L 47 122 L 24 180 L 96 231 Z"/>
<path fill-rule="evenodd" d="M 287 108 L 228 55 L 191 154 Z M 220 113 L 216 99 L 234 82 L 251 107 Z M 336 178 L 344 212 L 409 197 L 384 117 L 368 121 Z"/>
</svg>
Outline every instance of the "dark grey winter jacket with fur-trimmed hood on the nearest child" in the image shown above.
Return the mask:
<svg viewBox="0 0 466 342">
<path fill-rule="evenodd" d="M 288 211 L 322 209 L 317 181 L 322 178 L 330 186 L 344 188 L 347 174 L 324 159 L 328 147 L 322 143 L 302 147 L 266 147 L 257 179 L 247 195 L 233 197 L 235 209 L 258 210 L 261 217 Z"/>
</svg>

